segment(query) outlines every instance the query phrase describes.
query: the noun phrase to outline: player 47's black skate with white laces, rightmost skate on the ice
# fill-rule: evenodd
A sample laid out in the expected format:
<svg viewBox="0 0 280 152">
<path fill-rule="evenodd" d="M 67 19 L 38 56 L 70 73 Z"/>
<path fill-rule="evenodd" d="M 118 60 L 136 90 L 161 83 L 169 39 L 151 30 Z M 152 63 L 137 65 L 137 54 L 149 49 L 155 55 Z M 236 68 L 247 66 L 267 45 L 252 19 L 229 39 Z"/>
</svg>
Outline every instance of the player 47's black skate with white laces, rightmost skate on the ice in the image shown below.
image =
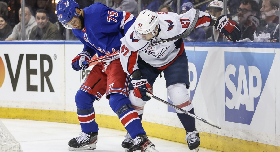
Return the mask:
<svg viewBox="0 0 280 152">
<path fill-rule="evenodd" d="M 185 141 L 188 142 L 188 147 L 190 150 L 196 150 L 198 146 L 200 145 L 200 138 L 199 138 L 199 132 L 198 131 L 192 131 L 186 133 L 186 139 Z M 197 149 L 198 151 L 199 149 Z M 197 152 L 194 151 L 194 152 Z"/>
</svg>

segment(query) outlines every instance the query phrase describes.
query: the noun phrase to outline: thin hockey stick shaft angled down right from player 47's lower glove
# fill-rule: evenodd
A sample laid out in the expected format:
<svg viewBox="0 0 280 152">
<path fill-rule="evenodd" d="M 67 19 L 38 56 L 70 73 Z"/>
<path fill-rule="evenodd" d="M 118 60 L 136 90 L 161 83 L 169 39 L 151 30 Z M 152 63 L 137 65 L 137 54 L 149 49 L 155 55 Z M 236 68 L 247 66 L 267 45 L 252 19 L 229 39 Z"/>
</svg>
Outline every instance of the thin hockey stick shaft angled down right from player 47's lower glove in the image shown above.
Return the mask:
<svg viewBox="0 0 280 152">
<path fill-rule="evenodd" d="M 203 118 L 200 118 L 200 117 L 198 117 L 198 116 L 196 116 L 196 115 L 194 115 L 194 114 L 191 114 L 191 113 L 189 113 L 188 111 L 183 110 L 183 109 L 177 107 L 176 105 L 172 105 L 171 103 L 166 102 L 166 101 L 160 99 L 159 97 L 156 97 L 156 96 L 154 96 L 154 95 L 152 95 L 152 94 L 150 94 L 150 93 L 148 93 L 148 92 L 146 92 L 146 95 L 149 96 L 149 97 L 151 97 L 151 98 L 154 98 L 154 99 L 156 99 L 156 100 L 158 100 L 158 101 L 161 101 L 161 102 L 163 102 L 163 103 L 165 103 L 165 104 L 167 104 L 167 105 L 169 105 L 169 106 L 171 106 L 171 107 L 173 107 L 173 108 L 175 108 L 175 109 L 177 109 L 177 110 L 180 110 L 180 111 L 182 111 L 183 113 L 185 113 L 185 114 L 187 114 L 187 115 L 189 115 L 189 116 L 191 116 L 191 117 L 193 117 L 193 118 L 196 118 L 196 119 L 202 121 L 203 123 L 207 123 L 208 125 L 211 125 L 211 126 L 213 126 L 213 127 L 215 127 L 215 128 L 218 128 L 218 129 L 221 129 L 221 127 L 219 127 L 219 126 L 217 126 L 217 125 L 214 125 L 213 123 L 209 123 L 209 122 L 208 122 L 209 120 L 207 121 L 207 120 L 205 120 L 205 119 L 203 119 Z"/>
</svg>

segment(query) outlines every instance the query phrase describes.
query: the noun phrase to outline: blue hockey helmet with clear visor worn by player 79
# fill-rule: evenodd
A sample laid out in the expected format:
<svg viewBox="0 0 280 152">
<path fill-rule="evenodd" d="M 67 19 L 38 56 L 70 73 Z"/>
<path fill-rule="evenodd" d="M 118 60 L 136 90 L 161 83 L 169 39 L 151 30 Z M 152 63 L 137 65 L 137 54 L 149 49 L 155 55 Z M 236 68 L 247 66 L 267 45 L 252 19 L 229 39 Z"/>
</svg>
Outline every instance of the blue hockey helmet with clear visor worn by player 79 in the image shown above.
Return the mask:
<svg viewBox="0 0 280 152">
<path fill-rule="evenodd" d="M 68 23 L 74 16 L 79 18 L 79 14 L 76 12 L 76 7 L 80 8 L 79 4 L 74 0 L 61 0 L 57 3 L 56 14 L 57 18 L 62 25 L 68 29 L 74 29 L 67 27 Z"/>
</svg>

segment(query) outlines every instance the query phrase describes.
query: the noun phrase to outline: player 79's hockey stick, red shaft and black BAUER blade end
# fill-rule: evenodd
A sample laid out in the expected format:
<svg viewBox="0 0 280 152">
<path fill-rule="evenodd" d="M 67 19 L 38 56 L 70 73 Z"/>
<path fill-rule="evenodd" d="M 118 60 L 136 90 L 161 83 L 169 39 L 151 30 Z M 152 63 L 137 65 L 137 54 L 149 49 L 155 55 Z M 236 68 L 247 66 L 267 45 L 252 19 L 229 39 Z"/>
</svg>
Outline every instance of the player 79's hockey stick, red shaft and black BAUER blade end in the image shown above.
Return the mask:
<svg viewBox="0 0 280 152">
<path fill-rule="evenodd" d="M 190 32 L 195 28 L 195 25 L 196 25 L 196 23 L 198 21 L 198 18 L 199 18 L 199 10 L 197 9 L 193 22 L 190 24 L 189 28 L 183 34 L 181 34 L 179 36 L 172 37 L 172 38 L 168 38 L 168 39 L 165 39 L 165 40 L 160 40 L 160 41 L 152 42 L 152 43 L 149 44 L 149 47 L 157 45 L 157 44 L 161 44 L 161 43 L 165 43 L 165 42 L 169 42 L 169 41 L 173 41 L 173 40 L 176 40 L 176 39 L 187 37 L 190 34 Z M 89 64 L 91 62 L 103 60 L 103 59 L 106 59 L 106 58 L 109 58 L 109 57 L 117 56 L 119 54 L 120 54 L 120 52 L 116 52 L 116 53 L 108 54 L 108 55 L 105 55 L 105 56 L 100 56 L 98 58 L 94 58 L 94 59 L 91 59 L 91 60 L 84 61 L 82 63 L 82 65 L 86 65 L 86 64 Z"/>
</svg>

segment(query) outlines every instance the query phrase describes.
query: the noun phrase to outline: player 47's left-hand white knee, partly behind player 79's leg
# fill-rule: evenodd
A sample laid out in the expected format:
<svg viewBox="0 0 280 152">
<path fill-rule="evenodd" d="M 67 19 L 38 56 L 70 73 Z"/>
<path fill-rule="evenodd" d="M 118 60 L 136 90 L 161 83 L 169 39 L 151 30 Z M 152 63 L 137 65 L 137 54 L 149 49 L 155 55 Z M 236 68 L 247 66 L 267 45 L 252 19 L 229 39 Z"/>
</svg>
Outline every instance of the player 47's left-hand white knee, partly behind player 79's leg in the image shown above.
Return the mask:
<svg viewBox="0 0 280 152">
<path fill-rule="evenodd" d="M 143 101 L 141 98 L 135 97 L 133 90 L 129 91 L 128 98 L 131 102 L 132 107 L 137 111 L 138 115 L 143 114 L 146 101 Z"/>
</svg>

